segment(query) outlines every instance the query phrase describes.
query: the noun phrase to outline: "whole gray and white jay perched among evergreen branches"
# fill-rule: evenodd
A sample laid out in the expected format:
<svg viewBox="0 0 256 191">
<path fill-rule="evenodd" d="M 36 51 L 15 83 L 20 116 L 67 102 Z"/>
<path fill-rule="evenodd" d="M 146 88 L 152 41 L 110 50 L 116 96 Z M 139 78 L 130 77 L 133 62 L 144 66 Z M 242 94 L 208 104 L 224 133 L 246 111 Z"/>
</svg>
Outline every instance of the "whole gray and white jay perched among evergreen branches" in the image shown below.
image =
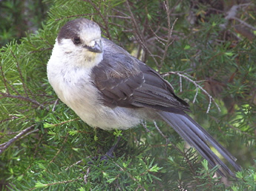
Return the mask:
<svg viewBox="0 0 256 191">
<path fill-rule="evenodd" d="M 47 77 L 57 96 L 92 127 L 127 130 L 142 120 L 162 119 L 211 167 L 218 164 L 234 176 L 208 144 L 240 170 L 229 151 L 186 114 L 189 106 L 174 94 L 171 84 L 102 38 L 99 25 L 91 20 L 75 19 L 62 27 L 47 63 Z"/>
</svg>

